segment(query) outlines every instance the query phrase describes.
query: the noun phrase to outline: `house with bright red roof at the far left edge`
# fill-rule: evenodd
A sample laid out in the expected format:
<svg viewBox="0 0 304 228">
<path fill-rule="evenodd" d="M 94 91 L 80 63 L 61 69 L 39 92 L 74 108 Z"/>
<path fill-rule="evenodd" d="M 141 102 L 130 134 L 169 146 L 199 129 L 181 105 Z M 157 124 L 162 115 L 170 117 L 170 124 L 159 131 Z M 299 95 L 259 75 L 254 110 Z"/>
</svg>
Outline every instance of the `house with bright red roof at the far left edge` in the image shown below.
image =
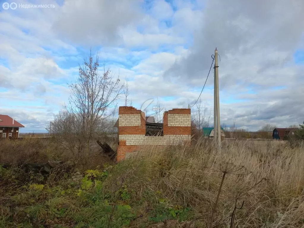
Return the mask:
<svg viewBox="0 0 304 228">
<path fill-rule="evenodd" d="M 0 138 L 18 138 L 20 127 L 24 126 L 14 118 L 0 115 Z"/>
</svg>

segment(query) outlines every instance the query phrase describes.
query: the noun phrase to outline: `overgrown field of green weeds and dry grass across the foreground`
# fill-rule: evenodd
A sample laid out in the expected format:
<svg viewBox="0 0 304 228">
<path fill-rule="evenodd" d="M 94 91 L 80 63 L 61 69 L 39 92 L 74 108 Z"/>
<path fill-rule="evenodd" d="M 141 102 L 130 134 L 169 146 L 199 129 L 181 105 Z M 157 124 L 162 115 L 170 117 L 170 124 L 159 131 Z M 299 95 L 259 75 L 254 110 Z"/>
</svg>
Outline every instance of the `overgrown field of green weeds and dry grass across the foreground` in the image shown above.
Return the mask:
<svg viewBox="0 0 304 228">
<path fill-rule="evenodd" d="M 224 141 L 217 151 L 209 142 L 43 176 L 18 164 L 73 157 L 49 141 L 1 141 L 1 164 L 13 162 L 0 168 L 0 227 L 304 226 L 303 145 Z"/>
</svg>

